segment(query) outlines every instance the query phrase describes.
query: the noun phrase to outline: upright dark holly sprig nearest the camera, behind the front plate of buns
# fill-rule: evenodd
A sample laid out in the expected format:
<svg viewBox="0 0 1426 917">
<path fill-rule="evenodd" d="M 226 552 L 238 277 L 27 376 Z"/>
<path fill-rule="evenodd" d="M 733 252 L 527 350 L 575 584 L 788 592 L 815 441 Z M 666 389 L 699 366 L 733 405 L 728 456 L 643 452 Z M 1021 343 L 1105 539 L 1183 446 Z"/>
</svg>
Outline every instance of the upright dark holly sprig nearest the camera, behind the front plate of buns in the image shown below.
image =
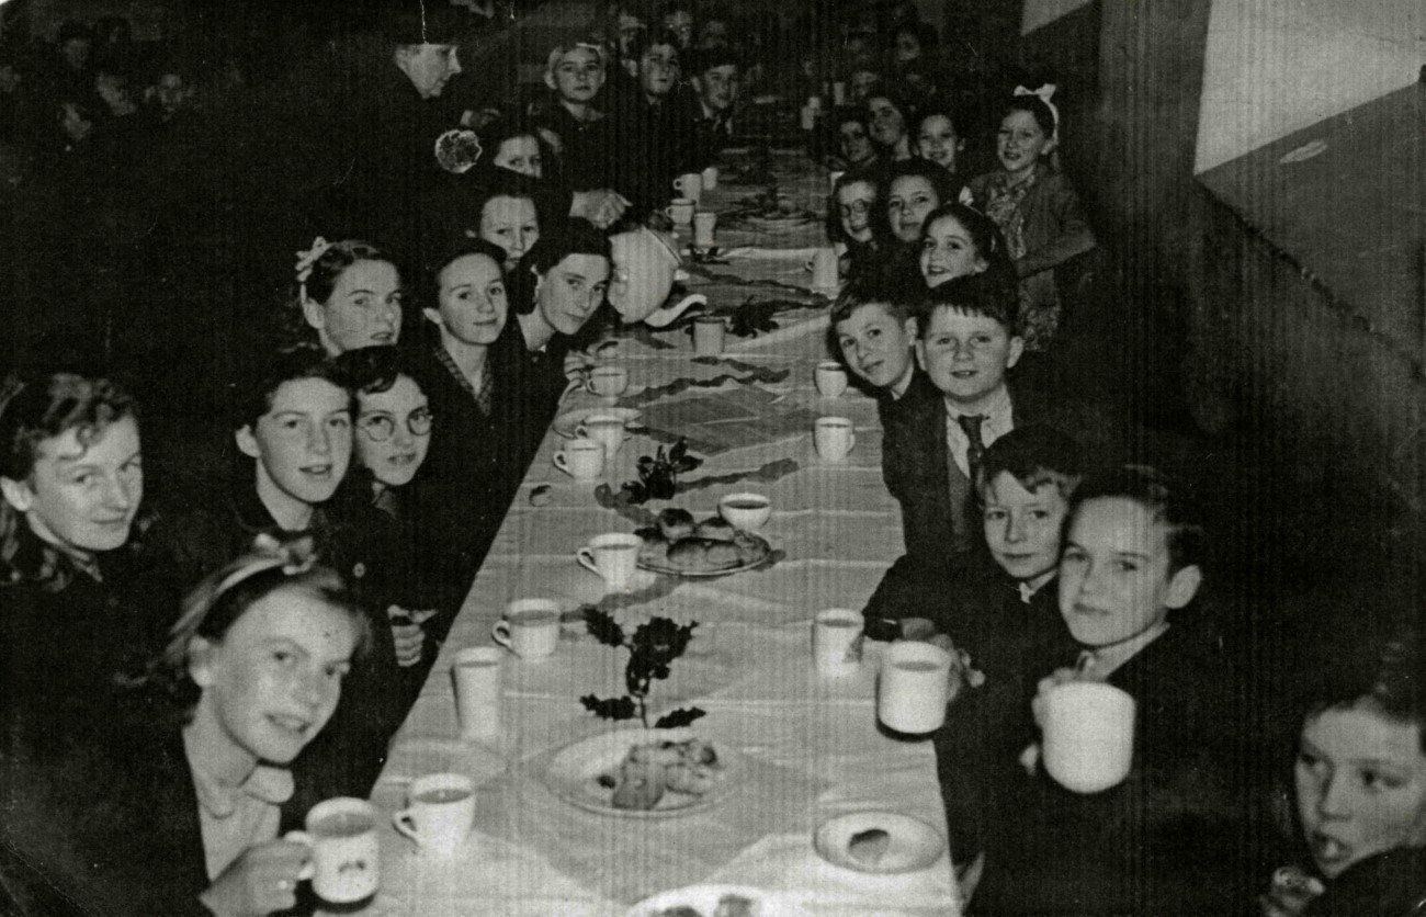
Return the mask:
<svg viewBox="0 0 1426 917">
<path fill-rule="evenodd" d="M 650 618 L 635 627 L 633 636 L 629 636 L 607 612 L 588 608 L 585 626 L 590 636 L 605 646 L 629 650 L 629 662 L 625 666 L 627 695 L 622 697 L 585 695 L 579 702 L 600 719 L 632 720 L 639 717 L 645 729 L 649 729 L 649 689 L 655 680 L 669 677 L 669 666 L 689 647 L 693 629 L 699 626 L 697 622 L 680 625 L 667 618 Z M 704 712 L 697 707 L 673 710 L 660 716 L 653 723 L 653 729 L 677 729 L 693 723 L 703 714 Z"/>
</svg>

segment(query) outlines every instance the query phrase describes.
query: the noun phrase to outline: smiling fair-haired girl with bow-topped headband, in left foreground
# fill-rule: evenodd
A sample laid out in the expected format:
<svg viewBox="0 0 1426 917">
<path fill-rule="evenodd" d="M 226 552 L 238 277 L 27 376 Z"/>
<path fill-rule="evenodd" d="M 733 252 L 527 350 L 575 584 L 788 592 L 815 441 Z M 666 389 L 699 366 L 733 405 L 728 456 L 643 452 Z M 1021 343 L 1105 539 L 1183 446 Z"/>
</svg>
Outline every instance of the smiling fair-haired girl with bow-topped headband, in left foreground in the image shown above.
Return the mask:
<svg viewBox="0 0 1426 917">
<path fill-rule="evenodd" d="M 117 917 L 291 908 L 309 849 L 278 839 L 287 766 L 365 640 L 307 542 L 262 542 L 214 572 L 120 714 L 56 719 L 61 753 L 6 759 L 17 794 L 0 831 L 29 864 L 21 881 Z"/>
</svg>

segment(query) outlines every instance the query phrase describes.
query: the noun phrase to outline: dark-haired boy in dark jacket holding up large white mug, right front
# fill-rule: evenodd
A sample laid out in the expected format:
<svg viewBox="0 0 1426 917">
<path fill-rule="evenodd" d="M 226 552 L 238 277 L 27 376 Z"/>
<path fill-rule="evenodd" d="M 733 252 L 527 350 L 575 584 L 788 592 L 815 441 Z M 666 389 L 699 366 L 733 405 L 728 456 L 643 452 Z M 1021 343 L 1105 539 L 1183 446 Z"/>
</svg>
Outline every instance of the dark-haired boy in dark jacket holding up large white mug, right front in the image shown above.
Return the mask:
<svg viewBox="0 0 1426 917">
<path fill-rule="evenodd" d="M 1205 546 L 1196 508 L 1154 469 L 1124 466 L 1075 491 L 1058 598 L 1078 649 L 1040 690 L 1084 677 L 1131 695 L 1134 763 L 1118 786 L 1079 794 L 1044 772 L 1037 746 L 1000 760 L 970 913 L 1221 914 L 1251 900 L 1236 682 L 1211 620 L 1189 609 Z"/>
</svg>

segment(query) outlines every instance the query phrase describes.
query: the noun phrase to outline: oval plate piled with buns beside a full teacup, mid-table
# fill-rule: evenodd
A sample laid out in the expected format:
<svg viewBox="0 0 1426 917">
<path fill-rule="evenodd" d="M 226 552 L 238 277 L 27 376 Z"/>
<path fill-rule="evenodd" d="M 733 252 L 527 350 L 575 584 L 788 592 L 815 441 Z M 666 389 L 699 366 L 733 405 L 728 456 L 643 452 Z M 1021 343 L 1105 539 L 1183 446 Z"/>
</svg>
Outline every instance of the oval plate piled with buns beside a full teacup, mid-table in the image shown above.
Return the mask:
<svg viewBox="0 0 1426 917">
<path fill-rule="evenodd" d="M 643 539 L 639 566 L 670 576 L 727 576 L 756 569 L 773 556 L 767 539 L 733 528 L 722 516 L 697 522 L 686 509 L 665 509 L 656 525 L 635 535 Z"/>
</svg>

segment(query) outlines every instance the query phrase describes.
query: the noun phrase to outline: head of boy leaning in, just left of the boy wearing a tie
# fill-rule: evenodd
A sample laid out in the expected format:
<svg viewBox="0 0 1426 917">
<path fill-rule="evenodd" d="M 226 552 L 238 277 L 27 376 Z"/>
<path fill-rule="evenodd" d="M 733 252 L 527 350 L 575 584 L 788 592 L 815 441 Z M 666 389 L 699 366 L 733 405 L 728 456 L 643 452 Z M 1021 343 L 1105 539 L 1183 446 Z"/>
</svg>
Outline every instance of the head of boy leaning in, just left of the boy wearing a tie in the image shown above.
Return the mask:
<svg viewBox="0 0 1426 917">
<path fill-rule="evenodd" d="M 937 394 L 914 354 L 915 309 L 924 298 L 920 284 L 864 278 L 847 284 L 831 307 L 831 349 L 877 399 L 883 426 L 897 409 Z"/>
</svg>

